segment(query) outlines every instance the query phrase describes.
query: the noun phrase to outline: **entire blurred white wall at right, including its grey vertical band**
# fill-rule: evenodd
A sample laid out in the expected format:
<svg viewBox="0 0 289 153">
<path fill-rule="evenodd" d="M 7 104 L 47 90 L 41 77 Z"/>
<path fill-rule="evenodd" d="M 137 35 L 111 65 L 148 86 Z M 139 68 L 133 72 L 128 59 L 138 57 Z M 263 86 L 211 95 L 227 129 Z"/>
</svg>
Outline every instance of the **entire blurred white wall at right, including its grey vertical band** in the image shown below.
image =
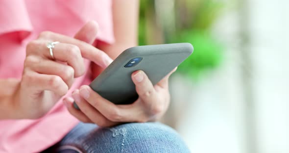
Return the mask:
<svg viewBox="0 0 289 153">
<path fill-rule="evenodd" d="M 289 153 L 289 1 L 244 6 L 213 29 L 228 47 L 222 66 L 197 84 L 171 79 L 176 128 L 193 153 Z"/>
</svg>

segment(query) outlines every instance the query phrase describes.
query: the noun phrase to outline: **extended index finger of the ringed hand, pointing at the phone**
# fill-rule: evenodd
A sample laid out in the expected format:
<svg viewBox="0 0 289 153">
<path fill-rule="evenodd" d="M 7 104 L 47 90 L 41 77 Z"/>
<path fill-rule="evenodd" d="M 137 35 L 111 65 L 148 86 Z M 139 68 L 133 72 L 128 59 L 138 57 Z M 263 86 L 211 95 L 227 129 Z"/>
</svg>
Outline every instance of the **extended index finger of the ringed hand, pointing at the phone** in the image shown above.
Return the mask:
<svg viewBox="0 0 289 153">
<path fill-rule="evenodd" d="M 97 48 L 93 47 L 88 43 L 74 39 L 69 36 L 50 31 L 44 31 L 41 32 L 39 38 L 48 39 L 52 42 L 59 41 L 61 43 L 76 45 L 80 49 L 82 57 L 93 61 L 102 68 L 106 68 L 113 61 L 105 52 L 98 50 Z"/>
</svg>

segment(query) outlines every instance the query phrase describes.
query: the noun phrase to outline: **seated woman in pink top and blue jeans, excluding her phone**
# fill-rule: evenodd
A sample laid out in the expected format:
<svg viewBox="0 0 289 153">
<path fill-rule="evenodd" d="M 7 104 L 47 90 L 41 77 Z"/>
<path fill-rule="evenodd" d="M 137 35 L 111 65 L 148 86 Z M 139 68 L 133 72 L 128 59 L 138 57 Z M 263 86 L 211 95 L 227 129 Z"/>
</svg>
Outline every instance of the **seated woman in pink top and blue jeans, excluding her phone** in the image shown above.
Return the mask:
<svg viewBox="0 0 289 153">
<path fill-rule="evenodd" d="M 69 2 L 0 1 L 0 153 L 189 152 L 148 123 L 168 108 L 169 75 L 152 86 L 134 72 L 140 98 L 129 105 L 85 85 L 137 45 L 138 0 Z"/>
</svg>

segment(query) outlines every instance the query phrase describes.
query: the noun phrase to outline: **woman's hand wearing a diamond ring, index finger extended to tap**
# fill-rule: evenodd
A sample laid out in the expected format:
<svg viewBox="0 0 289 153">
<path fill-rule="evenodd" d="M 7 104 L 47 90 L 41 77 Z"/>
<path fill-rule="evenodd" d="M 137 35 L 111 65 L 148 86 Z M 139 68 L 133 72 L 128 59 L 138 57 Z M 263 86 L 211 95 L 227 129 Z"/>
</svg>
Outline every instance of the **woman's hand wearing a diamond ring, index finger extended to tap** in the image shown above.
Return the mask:
<svg viewBox="0 0 289 153">
<path fill-rule="evenodd" d="M 24 71 L 13 99 L 15 119 L 37 119 L 45 115 L 72 86 L 74 77 L 85 73 L 83 58 L 102 68 L 112 59 L 90 45 L 96 39 L 98 26 L 89 22 L 74 38 L 45 31 L 26 47 Z M 59 41 L 51 58 L 47 44 Z"/>
</svg>

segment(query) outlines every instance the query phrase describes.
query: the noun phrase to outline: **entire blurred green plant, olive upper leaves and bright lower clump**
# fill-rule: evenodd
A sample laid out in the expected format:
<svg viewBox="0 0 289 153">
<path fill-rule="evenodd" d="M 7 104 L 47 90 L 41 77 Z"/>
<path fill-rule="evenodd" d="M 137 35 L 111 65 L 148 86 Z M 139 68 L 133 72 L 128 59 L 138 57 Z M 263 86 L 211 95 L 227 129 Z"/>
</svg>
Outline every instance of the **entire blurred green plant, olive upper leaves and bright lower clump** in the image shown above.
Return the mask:
<svg viewBox="0 0 289 153">
<path fill-rule="evenodd" d="M 160 43 L 153 40 L 156 38 L 156 29 L 160 29 L 165 37 L 161 43 L 188 42 L 194 47 L 193 55 L 178 67 L 177 72 L 196 79 L 205 71 L 217 68 L 222 61 L 224 46 L 212 36 L 210 30 L 222 12 L 223 3 L 217 0 L 170 0 L 174 4 L 174 16 L 168 16 L 156 13 L 166 12 L 157 9 L 169 8 L 166 7 L 169 1 L 161 1 L 163 3 L 159 7 L 156 0 L 141 0 L 139 44 Z M 168 20 L 175 25 L 165 25 L 171 23 Z"/>
</svg>

